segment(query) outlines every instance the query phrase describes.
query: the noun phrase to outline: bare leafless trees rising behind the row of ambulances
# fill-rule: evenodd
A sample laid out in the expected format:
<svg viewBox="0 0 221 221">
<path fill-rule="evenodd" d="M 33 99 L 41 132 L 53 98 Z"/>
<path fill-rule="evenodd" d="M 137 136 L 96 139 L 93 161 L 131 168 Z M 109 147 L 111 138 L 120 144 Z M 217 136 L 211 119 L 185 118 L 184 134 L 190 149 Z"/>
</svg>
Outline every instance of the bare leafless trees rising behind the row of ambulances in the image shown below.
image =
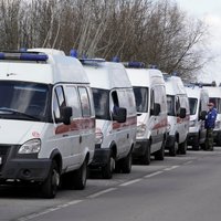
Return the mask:
<svg viewBox="0 0 221 221">
<path fill-rule="evenodd" d="M 1 50 L 53 48 L 194 77 L 207 27 L 172 0 L 0 0 Z"/>
</svg>

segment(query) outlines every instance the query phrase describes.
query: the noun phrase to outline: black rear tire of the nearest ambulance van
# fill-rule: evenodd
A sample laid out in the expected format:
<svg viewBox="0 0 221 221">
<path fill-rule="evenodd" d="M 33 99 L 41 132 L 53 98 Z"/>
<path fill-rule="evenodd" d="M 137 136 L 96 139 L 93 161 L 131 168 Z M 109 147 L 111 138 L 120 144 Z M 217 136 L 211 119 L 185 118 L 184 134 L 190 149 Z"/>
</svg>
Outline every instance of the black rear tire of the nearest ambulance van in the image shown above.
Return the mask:
<svg viewBox="0 0 221 221">
<path fill-rule="evenodd" d="M 87 180 L 87 161 L 84 160 L 80 169 L 74 171 L 74 189 L 83 190 L 86 187 Z"/>
</svg>

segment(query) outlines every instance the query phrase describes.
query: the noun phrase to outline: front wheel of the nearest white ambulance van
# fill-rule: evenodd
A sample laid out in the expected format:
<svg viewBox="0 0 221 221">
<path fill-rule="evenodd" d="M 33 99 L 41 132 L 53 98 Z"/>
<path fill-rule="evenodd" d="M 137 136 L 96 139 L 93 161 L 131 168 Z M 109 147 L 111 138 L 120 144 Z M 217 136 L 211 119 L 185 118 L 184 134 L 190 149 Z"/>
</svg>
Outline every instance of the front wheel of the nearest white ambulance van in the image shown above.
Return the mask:
<svg viewBox="0 0 221 221">
<path fill-rule="evenodd" d="M 55 160 L 52 161 L 49 177 L 42 183 L 41 190 L 44 198 L 52 199 L 56 196 L 60 186 L 60 172 Z"/>
</svg>

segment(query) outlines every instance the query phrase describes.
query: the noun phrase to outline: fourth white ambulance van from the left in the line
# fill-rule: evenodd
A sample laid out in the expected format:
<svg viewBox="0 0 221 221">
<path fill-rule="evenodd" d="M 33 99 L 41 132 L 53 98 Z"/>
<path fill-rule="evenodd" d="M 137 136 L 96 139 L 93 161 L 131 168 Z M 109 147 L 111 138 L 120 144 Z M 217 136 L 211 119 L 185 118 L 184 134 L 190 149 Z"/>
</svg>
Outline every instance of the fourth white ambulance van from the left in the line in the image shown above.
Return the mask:
<svg viewBox="0 0 221 221">
<path fill-rule="evenodd" d="M 170 156 L 186 154 L 190 108 L 187 92 L 179 76 L 164 74 L 167 93 L 168 137 L 166 149 Z"/>
</svg>

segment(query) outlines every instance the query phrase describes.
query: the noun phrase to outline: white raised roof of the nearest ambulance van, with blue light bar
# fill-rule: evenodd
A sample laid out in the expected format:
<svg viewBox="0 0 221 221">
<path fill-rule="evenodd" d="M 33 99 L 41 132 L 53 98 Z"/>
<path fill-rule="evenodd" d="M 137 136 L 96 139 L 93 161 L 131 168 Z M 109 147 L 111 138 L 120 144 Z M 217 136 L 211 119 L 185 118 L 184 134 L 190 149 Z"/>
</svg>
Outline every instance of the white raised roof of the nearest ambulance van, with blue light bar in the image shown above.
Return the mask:
<svg viewBox="0 0 221 221">
<path fill-rule="evenodd" d="M 2 52 L 2 55 L 4 52 Z M 88 83 L 86 73 L 77 59 L 66 56 L 63 51 L 54 49 L 31 49 L 27 52 L 7 52 L 9 59 L 0 60 L 0 80 L 28 81 L 55 84 L 59 82 Z M 11 55 L 11 59 L 10 59 Z M 23 60 L 19 56 L 25 55 Z M 36 60 L 29 60 L 35 55 Z M 38 56 L 44 55 L 45 60 L 39 61 Z"/>
</svg>

